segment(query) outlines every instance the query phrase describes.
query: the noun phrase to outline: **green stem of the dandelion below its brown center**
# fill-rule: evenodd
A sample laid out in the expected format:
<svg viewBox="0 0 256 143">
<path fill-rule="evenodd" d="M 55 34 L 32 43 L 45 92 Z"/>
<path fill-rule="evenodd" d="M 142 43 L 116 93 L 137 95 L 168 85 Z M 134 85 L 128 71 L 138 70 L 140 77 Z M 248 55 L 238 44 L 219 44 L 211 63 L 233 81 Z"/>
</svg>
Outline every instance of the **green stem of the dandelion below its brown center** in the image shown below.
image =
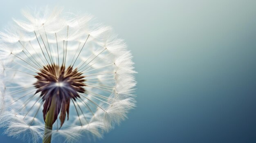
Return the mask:
<svg viewBox="0 0 256 143">
<path fill-rule="evenodd" d="M 56 97 L 52 97 L 52 102 L 51 106 L 49 108 L 49 111 L 46 114 L 45 118 L 45 134 L 44 134 L 44 139 L 43 143 L 51 143 L 52 140 L 52 125 L 53 125 L 53 120 L 54 120 L 54 111 L 56 108 Z"/>
</svg>

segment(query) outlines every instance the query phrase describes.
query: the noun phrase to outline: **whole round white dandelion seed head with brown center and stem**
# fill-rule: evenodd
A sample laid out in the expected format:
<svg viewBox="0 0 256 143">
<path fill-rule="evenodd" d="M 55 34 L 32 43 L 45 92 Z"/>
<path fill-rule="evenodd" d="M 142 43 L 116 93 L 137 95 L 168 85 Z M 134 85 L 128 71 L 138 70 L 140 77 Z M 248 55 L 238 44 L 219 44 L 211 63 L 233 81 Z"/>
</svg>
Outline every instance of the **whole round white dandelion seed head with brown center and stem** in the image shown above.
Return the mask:
<svg viewBox="0 0 256 143">
<path fill-rule="evenodd" d="M 42 12 L 43 11 L 43 12 Z M 132 55 L 90 15 L 48 9 L 0 32 L 0 127 L 45 143 L 101 138 L 135 107 Z"/>
</svg>

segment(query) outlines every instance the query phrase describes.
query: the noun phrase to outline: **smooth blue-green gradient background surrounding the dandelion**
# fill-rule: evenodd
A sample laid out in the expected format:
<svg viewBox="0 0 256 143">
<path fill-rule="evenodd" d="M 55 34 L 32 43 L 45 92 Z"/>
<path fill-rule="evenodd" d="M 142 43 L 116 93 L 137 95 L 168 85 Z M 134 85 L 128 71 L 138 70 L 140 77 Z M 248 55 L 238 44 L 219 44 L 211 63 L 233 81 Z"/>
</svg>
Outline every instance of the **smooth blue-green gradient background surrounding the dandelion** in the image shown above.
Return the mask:
<svg viewBox="0 0 256 143">
<path fill-rule="evenodd" d="M 137 108 L 96 143 L 256 142 L 255 0 L 9 0 L 0 27 L 45 5 L 91 13 L 134 55 Z"/>
</svg>

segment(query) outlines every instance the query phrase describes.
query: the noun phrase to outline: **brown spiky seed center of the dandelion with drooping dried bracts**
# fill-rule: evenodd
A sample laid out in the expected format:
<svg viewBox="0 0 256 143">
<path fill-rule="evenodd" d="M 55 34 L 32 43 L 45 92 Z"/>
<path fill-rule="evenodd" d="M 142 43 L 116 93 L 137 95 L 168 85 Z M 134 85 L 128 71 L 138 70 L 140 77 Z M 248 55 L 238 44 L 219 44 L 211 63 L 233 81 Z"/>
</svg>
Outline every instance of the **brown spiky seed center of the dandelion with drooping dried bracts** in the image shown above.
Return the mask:
<svg viewBox="0 0 256 143">
<path fill-rule="evenodd" d="M 55 64 L 44 66 L 40 69 L 40 73 L 37 74 L 35 76 L 37 81 L 34 86 L 37 88 L 36 93 L 41 92 L 40 96 L 44 101 L 43 118 L 45 120 L 52 98 L 55 97 L 57 108 L 54 111 L 53 123 L 61 112 L 59 118 L 62 126 L 66 112 L 68 119 L 70 99 L 76 100 L 76 98 L 80 98 L 79 93 L 85 92 L 83 88 L 83 86 L 86 86 L 84 84 L 85 76 L 82 76 L 82 73 L 79 73 L 77 69 L 73 69 L 71 66 L 65 68 L 65 66 L 59 67 Z"/>
</svg>

